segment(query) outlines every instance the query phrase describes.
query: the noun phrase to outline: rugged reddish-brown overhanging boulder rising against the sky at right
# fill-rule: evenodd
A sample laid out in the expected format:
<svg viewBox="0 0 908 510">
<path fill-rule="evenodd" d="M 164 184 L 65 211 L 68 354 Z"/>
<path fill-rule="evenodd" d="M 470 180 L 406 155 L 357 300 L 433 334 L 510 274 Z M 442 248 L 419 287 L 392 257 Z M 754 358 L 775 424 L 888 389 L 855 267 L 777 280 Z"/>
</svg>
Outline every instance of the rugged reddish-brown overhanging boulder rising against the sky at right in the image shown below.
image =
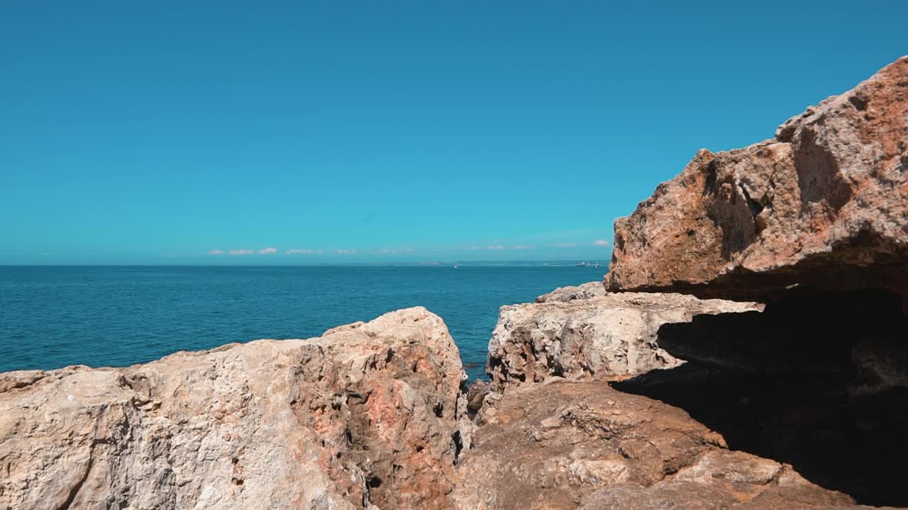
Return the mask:
<svg viewBox="0 0 908 510">
<path fill-rule="evenodd" d="M 606 284 L 726 299 L 793 285 L 908 296 L 908 57 L 775 140 L 697 152 L 615 222 Z"/>
</svg>

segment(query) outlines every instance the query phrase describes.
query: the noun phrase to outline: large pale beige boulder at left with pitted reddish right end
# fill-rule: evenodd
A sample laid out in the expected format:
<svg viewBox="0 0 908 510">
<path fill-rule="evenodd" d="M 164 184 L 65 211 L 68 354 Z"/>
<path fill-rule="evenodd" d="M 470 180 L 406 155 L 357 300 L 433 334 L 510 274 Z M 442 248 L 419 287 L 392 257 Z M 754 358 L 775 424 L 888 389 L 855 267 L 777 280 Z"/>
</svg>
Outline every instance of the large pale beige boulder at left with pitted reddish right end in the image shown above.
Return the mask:
<svg viewBox="0 0 908 510">
<path fill-rule="evenodd" d="M 404 309 L 321 338 L 0 375 L 0 508 L 447 508 L 473 425 L 448 329 Z"/>
</svg>

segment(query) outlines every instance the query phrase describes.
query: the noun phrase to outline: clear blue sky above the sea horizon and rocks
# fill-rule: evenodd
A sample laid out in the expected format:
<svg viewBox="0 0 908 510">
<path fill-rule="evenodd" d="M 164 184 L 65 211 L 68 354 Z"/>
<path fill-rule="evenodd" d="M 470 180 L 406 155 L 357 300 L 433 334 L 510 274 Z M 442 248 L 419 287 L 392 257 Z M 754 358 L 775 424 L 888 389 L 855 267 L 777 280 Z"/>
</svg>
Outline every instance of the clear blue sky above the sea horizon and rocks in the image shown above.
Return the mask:
<svg viewBox="0 0 908 510">
<path fill-rule="evenodd" d="M 901 0 L 5 0 L 0 263 L 606 260 L 697 149 L 772 137 L 908 54 L 906 23 Z"/>
</svg>

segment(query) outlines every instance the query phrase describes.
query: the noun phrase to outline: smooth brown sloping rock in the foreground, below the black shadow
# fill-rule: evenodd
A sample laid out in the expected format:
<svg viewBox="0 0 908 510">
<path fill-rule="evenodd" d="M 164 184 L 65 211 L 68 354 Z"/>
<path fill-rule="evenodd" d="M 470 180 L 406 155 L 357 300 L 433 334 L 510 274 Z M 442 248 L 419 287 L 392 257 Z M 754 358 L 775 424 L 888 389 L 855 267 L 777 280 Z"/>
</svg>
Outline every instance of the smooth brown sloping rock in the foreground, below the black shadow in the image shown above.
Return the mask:
<svg viewBox="0 0 908 510">
<path fill-rule="evenodd" d="M 791 466 L 725 449 L 681 409 L 603 382 L 519 387 L 482 417 L 458 467 L 463 510 L 855 507 Z"/>
</svg>

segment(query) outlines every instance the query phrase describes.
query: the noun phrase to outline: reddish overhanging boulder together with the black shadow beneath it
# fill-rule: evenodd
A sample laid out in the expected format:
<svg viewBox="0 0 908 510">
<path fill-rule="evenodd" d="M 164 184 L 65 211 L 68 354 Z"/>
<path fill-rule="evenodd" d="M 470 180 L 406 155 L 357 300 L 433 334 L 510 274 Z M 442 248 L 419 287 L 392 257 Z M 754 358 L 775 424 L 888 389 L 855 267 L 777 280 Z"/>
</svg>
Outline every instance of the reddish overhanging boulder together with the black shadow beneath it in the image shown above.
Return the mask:
<svg viewBox="0 0 908 510">
<path fill-rule="evenodd" d="M 685 366 L 616 387 L 873 505 L 908 505 L 908 57 L 782 124 L 700 151 L 615 223 L 615 291 L 765 299 L 666 324 Z"/>
</svg>

